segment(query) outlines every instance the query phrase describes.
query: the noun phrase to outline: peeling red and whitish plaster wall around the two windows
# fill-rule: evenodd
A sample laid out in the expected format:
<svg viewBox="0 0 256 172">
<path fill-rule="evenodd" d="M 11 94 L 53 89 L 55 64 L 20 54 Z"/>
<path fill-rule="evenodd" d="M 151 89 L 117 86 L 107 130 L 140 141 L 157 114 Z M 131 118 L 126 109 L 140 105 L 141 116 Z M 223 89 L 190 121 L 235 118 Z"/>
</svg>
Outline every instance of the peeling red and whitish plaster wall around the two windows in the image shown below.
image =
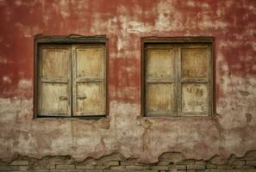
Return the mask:
<svg viewBox="0 0 256 172">
<path fill-rule="evenodd" d="M 154 163 L 256 150 L 256 1 L 0 0 L 0 158 L 17 154 Z M 109 116 L 33 120 L 34 35 L 106 34 Z M 143 118 L 140 37 L 214 36 L 214 118 Z"/>
</svg>

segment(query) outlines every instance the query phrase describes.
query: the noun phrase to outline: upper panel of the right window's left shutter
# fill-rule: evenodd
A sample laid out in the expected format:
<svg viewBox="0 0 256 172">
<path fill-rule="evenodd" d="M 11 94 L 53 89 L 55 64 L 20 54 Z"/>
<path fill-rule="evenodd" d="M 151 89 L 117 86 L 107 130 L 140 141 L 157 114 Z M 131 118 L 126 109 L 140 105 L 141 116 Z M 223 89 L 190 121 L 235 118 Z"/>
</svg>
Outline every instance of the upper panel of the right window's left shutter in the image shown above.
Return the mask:
<svg viewBox="0 0 256 172">
<path fill-rule="evenodd" d="M 147 49 L 146 55 L 147 77 L 171 77 L 174 74 L 174 49 Z"/>
</svg>

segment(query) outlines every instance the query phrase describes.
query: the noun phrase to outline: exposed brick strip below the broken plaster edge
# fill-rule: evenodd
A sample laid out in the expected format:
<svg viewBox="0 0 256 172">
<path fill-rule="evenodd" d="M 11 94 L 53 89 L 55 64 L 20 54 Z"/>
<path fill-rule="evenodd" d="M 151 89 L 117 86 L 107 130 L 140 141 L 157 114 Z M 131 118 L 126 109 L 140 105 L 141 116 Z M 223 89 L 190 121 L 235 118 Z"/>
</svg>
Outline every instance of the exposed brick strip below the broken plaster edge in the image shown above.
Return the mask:
<svg viewBox="0 0 256 172">
<path fill-rule="evenodd" d="M 126 159 L 119 153 L 99 159 L 86 158 L 76 162 L 68 156 L 43 157 L 35 159 L 16 157 L 10 163 L 0 162 L 0 171 L 12 172 L 255 172 L 256 151 L 249 151 L 244 157 L 232 155 L 228 159 L 215 156 L 209 160 L 185 159 L 178 152 L 167 152 L 159 157 L 158 163 L 138 163 Z"/>
</svg>

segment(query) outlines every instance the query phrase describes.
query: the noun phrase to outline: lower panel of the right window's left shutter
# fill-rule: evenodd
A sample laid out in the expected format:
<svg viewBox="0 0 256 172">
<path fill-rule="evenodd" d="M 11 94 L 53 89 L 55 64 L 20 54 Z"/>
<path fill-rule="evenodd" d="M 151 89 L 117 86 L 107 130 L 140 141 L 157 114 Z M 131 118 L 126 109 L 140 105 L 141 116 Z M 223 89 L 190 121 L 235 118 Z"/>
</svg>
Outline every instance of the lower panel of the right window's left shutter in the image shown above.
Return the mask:
<svg viewBox="0 0 256 172">
<path fill-rule="evenodd" d="M 173 83 L 147 84 L 147 113 L 168 112 L 173 114 Z"/>
</svg>

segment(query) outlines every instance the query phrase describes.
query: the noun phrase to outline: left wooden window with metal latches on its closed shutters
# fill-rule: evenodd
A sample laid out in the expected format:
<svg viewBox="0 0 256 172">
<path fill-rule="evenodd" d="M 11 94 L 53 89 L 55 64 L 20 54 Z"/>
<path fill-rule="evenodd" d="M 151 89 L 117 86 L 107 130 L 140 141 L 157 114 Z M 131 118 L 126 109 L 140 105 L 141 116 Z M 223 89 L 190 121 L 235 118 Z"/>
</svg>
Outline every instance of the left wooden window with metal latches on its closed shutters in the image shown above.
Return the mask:
<svg viewBox="0 0 256 172">
<path fill-rule="evenodd" d="M 106 115 L 106 38 L 36 37 L 36 117 Z"/>
</svg>

